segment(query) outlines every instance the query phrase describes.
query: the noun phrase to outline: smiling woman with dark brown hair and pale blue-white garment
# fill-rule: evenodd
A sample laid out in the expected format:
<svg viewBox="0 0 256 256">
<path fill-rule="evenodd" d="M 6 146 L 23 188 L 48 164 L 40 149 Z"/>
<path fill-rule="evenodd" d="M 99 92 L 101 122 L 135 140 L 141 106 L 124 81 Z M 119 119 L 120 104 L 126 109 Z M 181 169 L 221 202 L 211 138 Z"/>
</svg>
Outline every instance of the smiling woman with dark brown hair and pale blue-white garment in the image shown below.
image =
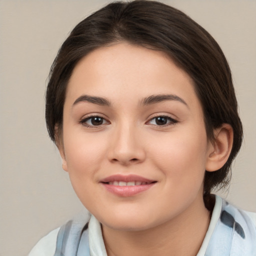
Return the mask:
<svg viewBox="0 0 256 256">
<path fill-rule="evenodd" d="M 92 215 L 29 255 L 256 253 L 255 214 L 210 194 L 242 141 L 230 69 L 184 13 L 114 2 L 77 24 L 51 68 L 46 123 Z"/>
</svg>

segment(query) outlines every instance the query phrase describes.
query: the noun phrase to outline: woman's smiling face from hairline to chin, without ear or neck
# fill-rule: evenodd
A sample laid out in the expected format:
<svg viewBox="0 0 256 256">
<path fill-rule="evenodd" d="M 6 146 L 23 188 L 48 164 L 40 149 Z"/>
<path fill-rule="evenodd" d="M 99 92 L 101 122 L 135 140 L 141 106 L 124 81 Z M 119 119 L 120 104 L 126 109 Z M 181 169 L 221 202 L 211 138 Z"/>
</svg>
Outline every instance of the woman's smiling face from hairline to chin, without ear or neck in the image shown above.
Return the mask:
<svg viewBox="0 0 256 256">
<path fill-rule="evenodd" d="M 202 108 L 190 77 L 164 53 L 119 43 L 82 58 L 62 132 L 63 169 L 102 225 L 142 230 L 203 207 Z"/>
</svg>

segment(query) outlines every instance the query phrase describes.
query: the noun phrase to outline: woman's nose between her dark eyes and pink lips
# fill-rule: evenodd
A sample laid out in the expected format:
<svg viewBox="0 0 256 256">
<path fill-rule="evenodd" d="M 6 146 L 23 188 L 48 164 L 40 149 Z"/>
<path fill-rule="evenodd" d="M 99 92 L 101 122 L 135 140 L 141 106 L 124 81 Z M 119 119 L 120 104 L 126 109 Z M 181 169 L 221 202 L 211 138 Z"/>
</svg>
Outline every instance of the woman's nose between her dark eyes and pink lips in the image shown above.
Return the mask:
<svg viewBox="0 0 256 256">
<path fill-rule="evenodd" d="M 113 130 L 110 138 L 108 159 L 122 165 L 131 165 L 143 162 L 145 150 L 138 128 L 123 125 Z"/>
</svg>

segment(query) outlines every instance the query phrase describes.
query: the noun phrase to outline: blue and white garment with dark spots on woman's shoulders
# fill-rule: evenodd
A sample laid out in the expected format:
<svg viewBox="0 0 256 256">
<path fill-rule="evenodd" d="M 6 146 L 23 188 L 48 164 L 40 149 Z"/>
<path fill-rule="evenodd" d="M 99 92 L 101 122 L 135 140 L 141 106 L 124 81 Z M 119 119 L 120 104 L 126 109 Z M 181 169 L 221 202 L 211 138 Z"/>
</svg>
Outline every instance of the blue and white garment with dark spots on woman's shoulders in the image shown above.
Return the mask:
<svg viewBox="0 0 256 256">
<path fill-rule="evenodd" d="M 219 196 L 196 256 L 256 256 L 256 214 L 237 209 Z M 86 223 L 86 224 L 84 224 Z M 100 223 L 73 219 L 42 238 L 28 256 L 107 256 Z"/>
</svg>

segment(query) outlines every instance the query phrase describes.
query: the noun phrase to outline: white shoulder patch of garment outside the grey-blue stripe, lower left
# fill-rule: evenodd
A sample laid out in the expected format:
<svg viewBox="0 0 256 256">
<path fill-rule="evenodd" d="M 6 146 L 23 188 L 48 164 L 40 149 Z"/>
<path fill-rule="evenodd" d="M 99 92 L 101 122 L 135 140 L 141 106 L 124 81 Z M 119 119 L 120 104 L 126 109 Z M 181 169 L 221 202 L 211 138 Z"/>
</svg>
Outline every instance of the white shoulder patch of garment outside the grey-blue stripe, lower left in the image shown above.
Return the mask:
<svg viewBox="0 0 256 256">
<path fill-rule="evenodd" d="M 56 228 L 42 237 L 32 248 L 28 256 L 53 256 L 59 228 Z"/>
</svg>

